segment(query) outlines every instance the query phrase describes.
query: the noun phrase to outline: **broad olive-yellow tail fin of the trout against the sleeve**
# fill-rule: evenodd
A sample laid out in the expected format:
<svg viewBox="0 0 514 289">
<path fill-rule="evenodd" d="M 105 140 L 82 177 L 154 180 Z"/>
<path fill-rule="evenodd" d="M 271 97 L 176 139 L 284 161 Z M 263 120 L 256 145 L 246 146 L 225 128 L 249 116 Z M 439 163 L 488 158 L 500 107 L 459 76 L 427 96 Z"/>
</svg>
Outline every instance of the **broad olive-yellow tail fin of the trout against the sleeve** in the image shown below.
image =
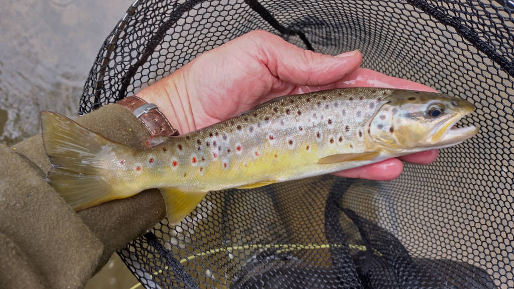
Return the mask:
<svg viewBox="0 0 514 289">
<path fill-rule="evenodd" d="M 127 195 L 113 190 L 105 160 L 121 143 L 106 139 L 52 112 L 41 112 L 43 145 L 52 163 L 46 178 L 75 210 Z"/>
</svg>

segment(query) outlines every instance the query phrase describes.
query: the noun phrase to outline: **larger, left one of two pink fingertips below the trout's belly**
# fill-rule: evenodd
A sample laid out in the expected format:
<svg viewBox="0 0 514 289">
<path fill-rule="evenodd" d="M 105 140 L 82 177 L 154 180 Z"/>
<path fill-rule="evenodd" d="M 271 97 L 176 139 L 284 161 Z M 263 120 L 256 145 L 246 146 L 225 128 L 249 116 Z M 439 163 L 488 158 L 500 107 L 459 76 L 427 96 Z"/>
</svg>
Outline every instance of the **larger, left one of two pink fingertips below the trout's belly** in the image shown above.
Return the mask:
<svg viewBox="0 0 514 289">
<path fill-rule="evenodd" d="M 397 158 L 390 158 L 376 162 L 375 164 L 335 172 L 333 174 L 351 178 L 391 180 L 397 178 L 402 170 L 402 162 Z"/>
</svg>

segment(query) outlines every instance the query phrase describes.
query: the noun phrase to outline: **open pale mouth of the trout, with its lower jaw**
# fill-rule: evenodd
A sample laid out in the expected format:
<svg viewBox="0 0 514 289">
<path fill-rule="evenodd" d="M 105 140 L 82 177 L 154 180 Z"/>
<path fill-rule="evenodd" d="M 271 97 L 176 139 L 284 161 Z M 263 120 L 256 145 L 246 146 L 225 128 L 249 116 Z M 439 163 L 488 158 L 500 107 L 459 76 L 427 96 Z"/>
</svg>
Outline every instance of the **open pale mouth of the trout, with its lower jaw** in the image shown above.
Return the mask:
<svg viewBox="0 0 514 289">
<path fill-rule="evenodd" d="M 436 144 L 439 148 L 456 145 L 457 143 L 463 142 L 464 140 L 478 134 L 479 128 L 474 125 L 464 128 L 455 128 L 455 123 L 464 118 L 466 113 L 461 116 L 457 116 L 453 121 L 442 125 L 434 135 L 431 137 L 431 142 Z"/>
</svg>

